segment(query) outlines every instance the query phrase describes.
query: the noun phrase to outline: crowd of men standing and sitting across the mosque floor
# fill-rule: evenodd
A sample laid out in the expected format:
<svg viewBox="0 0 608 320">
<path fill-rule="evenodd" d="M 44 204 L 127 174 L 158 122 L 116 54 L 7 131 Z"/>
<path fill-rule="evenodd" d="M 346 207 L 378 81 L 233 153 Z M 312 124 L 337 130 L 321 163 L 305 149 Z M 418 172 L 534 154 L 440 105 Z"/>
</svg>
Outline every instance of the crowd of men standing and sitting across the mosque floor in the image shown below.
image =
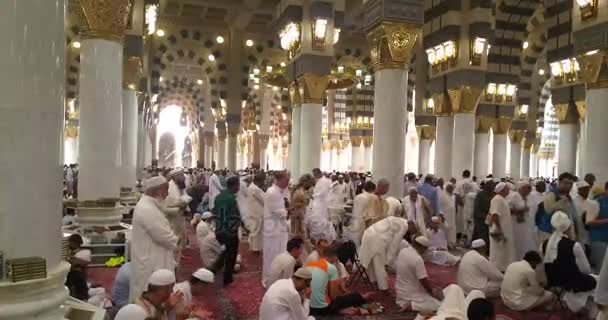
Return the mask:
<svg viewBox="0 0 608 320">
<path fill-rule="evenodd" d="M 368 275 L 378 294 L 395 273 L 395 302 L 421 319 L 494 319 L 492 298 L 515 311 L 551 308 L 562 291 L 570 311 L 603 316 L 608 184 L 593 174 L 479 181 L 465 170 L 449 181 L 408 173 L 403 184 L 395 197 L 371 173 L 146 168 L 116 319 L 211 318 L 192 295 L 220 274 L 238 285 L 243 240 L 262 256 L 260 319 L 358 314 L 373 296 L 352 291 L 349 272 Z M 194 243 L 203 268 L 175 284 Z M 429 263 L 455 266 L 457 283 L 433 287 Z"/>
</svg>

